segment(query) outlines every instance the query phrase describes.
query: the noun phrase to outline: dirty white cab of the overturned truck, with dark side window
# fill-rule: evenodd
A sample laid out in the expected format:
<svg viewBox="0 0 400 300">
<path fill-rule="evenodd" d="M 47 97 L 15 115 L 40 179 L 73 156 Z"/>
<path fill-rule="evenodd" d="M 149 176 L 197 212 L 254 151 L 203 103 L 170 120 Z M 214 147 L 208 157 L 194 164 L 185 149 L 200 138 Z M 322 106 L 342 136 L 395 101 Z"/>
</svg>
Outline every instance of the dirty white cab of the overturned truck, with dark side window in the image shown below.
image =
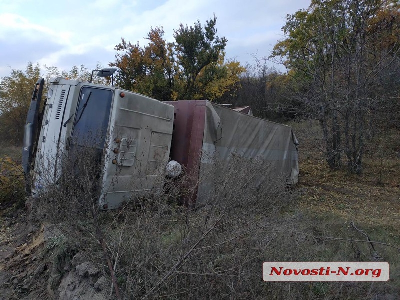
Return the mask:
<svg viewBox="0 0 400 300">
<path fill-rule="evenodd" d="M 64 159 L 85 155 L 87 149 L 99 164 L 101 209 L 117 208 L 132 195 L 156 187 L 169 159 L 172 105 L 114 86 L 57 77 L 48 82 L 38 121 L 41 80 L 33 93 L 22 150 L 32 196 L 57 184 Z"/>
</svg>

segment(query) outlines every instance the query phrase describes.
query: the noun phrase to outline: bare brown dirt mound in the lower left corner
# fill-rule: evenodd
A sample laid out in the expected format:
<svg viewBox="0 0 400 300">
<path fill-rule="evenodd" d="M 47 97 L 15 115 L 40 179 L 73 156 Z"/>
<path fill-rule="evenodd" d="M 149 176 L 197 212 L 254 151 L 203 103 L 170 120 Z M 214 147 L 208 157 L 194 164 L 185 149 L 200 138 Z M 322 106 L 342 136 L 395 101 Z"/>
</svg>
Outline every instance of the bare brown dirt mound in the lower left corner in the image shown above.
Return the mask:
<svg viewBox="0 0 400 300">
<path fill-rule="evenodd" d="M 57 248 L 50 225 L 24 210 L 1 217 L 0 299 L 108 299 L 110 284 L 84 255 Z"/>
</svg>

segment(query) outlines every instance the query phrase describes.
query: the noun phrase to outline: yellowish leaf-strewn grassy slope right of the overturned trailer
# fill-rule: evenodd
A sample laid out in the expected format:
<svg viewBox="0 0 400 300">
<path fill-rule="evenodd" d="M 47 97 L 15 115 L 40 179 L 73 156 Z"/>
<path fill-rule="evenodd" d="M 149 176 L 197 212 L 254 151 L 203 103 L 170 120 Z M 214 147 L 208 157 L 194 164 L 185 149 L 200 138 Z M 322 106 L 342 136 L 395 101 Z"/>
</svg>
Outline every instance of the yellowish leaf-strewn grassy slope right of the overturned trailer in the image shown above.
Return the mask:
<svg viewBox="0 0 400 300">
<path fill-rule="evenodd" d="M 316 123 L 292 123 L 300 143 L 300 209 L 329 213 L 400 235 L 400 132 L 371 140 L 361 176 L 331 171 L 324 161 Z M 380 157 L 377 156 L 377 152 Z M 380 179 L 380 180 L 379 180 Z"/>
</svg>

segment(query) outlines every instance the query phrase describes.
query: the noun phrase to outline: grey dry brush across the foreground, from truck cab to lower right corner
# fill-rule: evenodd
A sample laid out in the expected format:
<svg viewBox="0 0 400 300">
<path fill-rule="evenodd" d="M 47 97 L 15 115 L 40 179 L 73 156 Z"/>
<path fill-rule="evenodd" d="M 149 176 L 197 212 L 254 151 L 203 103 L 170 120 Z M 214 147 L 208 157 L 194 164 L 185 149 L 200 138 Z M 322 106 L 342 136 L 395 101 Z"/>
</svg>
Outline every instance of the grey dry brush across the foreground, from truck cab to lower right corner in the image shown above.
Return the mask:
<svg viewBox="0 0 400 300">
<path fill-rule="evenodd" d="M 222 172 L 224 162 L 213 157 L 203 178 L 211 178 L 214 188 L 196 208 L 181 206 L 181 197 L 190 198 L 201 182 L 192 184 L 191 175 L 183 173 L 160 176 L 163 189 L 132 194 L 119 209 L 100 211 L 99 181 L 93 175 L 99 168 L 90 159 L 91 150 L 84 150 L 89 152 L 76 161 L 66 160 L 40 206 L 57 236 L 63 234 L 61 257 L 80 252 L 94 262 L 109 279 L 112 297 L 115 288 L 120 299 L 372 299 L 396 294 L 390 282 L 262 281 L 264 261 L 390 261 L 397 251 L 375 244 L 374 254 L 370 244 L 356 241 L 363 236 L 353 228 L 343 230 L 331 220 L 296 212 L 295 193 L 286 191 L 283 176 L 265 175 L 272 166 L 262 159 L 233 154 Z M 58 258 L 59 263 L 66 260 Z"/>
</svg>

